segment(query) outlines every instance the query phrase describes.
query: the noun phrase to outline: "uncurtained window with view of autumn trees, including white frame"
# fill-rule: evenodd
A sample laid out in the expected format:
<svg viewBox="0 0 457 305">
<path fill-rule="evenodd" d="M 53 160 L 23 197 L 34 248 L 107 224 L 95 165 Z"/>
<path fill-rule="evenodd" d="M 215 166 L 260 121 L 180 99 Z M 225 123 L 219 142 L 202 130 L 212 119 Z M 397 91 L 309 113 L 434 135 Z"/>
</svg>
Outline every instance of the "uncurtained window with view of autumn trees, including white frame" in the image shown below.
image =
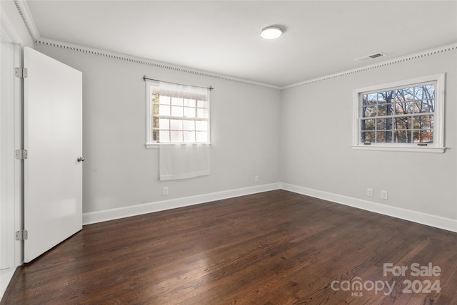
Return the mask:
<svg viewBox="0 0 457 305">
<path fill-rule="evenodd" d="M 443 153 L 444 75 L 354 90 L 353 148 Z"/>
</svg>

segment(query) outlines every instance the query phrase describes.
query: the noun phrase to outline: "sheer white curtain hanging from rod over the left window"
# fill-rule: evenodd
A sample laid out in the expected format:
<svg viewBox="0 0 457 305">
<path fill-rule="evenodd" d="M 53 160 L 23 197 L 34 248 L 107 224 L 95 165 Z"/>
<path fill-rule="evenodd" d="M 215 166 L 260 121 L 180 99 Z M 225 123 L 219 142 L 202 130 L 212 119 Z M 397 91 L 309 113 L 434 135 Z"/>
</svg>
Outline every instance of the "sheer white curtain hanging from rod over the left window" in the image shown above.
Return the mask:
<svg viewBox="0 0 457 305">
<path fill-rule="evenodd" d="M 170 114 L 173 118 L 169 122 L 170 130 L 166 130 L 169 143 L 159 145 L 160 180 L 209 175 L 209 129 L 204 143 L 198 143 L 204 132 L 189 128 L 191 122 L 199 122 L 199 115 L 208 115 L 199 113 L 201 109 L 197 104 L 199 101 L 209 103 L 209 89 L 166 82 L 160 82 L 159 86 L 161 95 L 171 97 Z M 191 111 L 192 103 L 195 103 L 194 112 Z"/>
</svg>

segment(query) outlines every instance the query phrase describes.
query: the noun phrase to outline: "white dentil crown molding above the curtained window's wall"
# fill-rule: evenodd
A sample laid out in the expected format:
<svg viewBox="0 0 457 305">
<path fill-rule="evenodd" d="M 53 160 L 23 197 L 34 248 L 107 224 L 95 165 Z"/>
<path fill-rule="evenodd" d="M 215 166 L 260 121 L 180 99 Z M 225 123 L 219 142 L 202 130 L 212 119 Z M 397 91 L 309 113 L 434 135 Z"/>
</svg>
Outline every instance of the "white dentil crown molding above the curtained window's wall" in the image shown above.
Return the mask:
<svg viewBox="0 0 457 305">
<path fill-rule="evenodd" d="M 65 49 L 72 50 L 72 51 L 90 53 L 90 54 L 93 54 L 96 56 L 104 56 L 104 57 L 108 57 L 108 58 L 120 59 L 121 61 L 130 61 L 132 63 L 141 63 L 141 64 L 148 65 L 148 66 L 155 66 L 157 68 L 166 68 L 166 69 L 170 69 L 170 70 L 174 70 L 174 71 L 196 74 L 199 76 L 208 76 L 211 78 L 219 78 L 219 79 L 223 79 L 226 81 L 236 81 L 238 83 L 248 83 L 251 85 L 263 86 L 263 87 L 268 87 L 268 88 L 273 88 L 273 89 L 281 89 L 278 86 L 273 86 L 268 83 L 258 83 L 256 81 L 249 81 L 249 80 L 246 80 L 243 78 L 235 78 L 233 76 L 226 76 L 224 74 L 211 73 L 209 71 L 202 71 L 202 70 L 189 68 L 189 67 L 185 67 L 185 66 L 176 66 L 176 65 L 172 65 L 170 63 L 164 63 L 161 61 L 152 61 L 151 59 L 147 59 L 147 58 L 130 56 L 130 55 L 122 54 L 122 53 L 105 51 L 105 50 L 100 50 L 97 48 L 90 48 L 87 46 L 78 46 L 76 44 L 65 43 L 62 41 L 55 41 L 55 40 L 52 40 L 49 38 L 40 37 L 40 38 L 36 39 L 35 43 L 44 44 L 46 46 L 54 46 L 56 48 L 65 48 Z"/>
</svg>

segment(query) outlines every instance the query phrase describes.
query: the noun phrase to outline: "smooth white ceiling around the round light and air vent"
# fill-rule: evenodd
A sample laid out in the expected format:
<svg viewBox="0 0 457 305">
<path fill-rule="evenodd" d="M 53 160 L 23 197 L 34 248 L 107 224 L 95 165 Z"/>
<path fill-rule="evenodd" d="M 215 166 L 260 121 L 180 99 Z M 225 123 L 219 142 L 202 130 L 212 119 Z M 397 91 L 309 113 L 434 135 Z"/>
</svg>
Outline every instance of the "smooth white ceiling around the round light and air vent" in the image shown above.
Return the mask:
<svg viewBox="0 0 457 305">
<path fill-rule="evenodd" d="M 457 42 L 457 1 L 26 4 L 41 38 L 278 87 Z M 261 38 L 273 24 L 283 36 Z M 387 55 L 354 60 L 378 52 Z"/>
</svg>

